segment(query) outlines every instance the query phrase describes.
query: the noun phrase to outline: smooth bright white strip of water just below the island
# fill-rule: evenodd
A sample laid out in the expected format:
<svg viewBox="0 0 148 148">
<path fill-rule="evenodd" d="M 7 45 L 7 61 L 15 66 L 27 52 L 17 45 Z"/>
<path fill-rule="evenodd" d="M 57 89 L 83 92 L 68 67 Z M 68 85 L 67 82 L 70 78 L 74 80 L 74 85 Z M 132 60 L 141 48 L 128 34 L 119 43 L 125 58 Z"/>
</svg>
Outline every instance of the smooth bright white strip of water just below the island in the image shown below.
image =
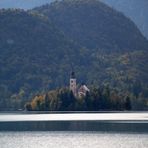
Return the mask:
<svg viewBox="0 0 148 148">
<path fill-rule="evenodd" d="M 29 114 L 26 114 L 29 113 Z M 0 113 L 1 121 L 148 121 L 148 112 L 107 112 L 107 113 Z"/>
</svg>

